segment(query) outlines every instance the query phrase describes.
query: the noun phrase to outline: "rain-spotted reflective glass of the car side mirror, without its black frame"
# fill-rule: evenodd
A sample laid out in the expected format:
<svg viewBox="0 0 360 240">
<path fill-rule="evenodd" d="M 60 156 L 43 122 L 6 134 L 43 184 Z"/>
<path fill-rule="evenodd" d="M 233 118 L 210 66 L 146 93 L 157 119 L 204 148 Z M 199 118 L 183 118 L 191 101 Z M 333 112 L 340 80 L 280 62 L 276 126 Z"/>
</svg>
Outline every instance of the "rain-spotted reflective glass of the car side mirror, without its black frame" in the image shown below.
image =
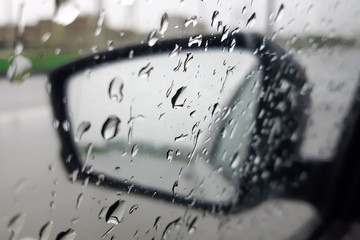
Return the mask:
<svg viewBox="0 0 360 240">
<path fill-rule="evenodd" d="M 134 57 L 70 76 L 81 171 L 200 202 L 237 199 L 263 73 L 251 52 Z"/>
</svg>

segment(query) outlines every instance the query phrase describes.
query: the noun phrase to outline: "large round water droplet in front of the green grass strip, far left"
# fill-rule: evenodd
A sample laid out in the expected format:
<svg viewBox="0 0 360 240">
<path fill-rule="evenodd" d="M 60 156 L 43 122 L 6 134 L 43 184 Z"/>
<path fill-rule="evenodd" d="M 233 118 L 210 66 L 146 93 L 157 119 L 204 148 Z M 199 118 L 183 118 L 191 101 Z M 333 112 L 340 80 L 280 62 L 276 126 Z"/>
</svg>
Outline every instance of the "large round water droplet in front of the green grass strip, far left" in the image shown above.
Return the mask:
<svg viewBox="0 0 360 240">
<path fill-rule="evenodd" d="M 28 58 L 22 55 L 17 55 L 11 60 L 6 76 L 10 82 L 20 83 L 30 77 L 31 68 L 32 64 Z"/>
</svg>

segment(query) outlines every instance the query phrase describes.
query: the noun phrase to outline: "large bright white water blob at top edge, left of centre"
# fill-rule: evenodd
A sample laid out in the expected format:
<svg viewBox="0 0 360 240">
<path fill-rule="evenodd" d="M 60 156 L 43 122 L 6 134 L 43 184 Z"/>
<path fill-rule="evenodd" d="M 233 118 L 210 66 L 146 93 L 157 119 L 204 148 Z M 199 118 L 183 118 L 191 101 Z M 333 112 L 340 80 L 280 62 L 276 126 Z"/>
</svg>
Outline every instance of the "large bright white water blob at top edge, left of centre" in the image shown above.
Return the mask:
<svg viewBox="0 0 360 240">
<path fill-rule="evenodd" d="M 80 9 L 75 1 L 56 1 L 53 21 L 57 24 L 66 26 L 74 22 L 79 14 Z"/>
</svg>

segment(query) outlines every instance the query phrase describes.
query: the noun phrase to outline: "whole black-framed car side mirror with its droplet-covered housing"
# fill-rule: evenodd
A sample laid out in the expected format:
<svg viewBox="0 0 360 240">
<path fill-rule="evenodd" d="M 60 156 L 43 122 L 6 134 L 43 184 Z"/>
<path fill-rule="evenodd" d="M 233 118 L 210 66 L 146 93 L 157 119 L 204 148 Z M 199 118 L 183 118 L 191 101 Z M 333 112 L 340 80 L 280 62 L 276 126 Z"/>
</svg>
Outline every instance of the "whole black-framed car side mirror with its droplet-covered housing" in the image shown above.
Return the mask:
<svg viewBox="0 0 360 240">
<path fill-rule="evenodd" d="M 55 70 L 51 82 L 65 165 L 96 184 L 232 206 L 249 179 L 270 179 L 262 166 L 298 145 L 303 73 L 257 35 L 118 49 Z"/>
</svg>

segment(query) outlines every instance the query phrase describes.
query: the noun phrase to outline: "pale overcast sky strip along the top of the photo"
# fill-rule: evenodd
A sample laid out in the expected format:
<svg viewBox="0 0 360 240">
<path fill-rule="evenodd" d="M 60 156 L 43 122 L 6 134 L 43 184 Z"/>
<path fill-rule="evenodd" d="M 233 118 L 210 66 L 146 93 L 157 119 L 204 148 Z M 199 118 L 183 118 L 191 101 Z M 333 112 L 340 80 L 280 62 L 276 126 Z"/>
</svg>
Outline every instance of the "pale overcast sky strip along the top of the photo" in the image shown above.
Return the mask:
<svg viewBox="0 0 360 240">
<path fill-rule="evenodd" d="M 268 26 L 270 0 L 74 0 L 80 15 L 98 15 L 99 6 L 105 9 L 105 23 L 114 29 L 133 28 L 151 31 L 159 27 L 161 16 L 201 17 L 199 22 L 208 26 L 212 13 L 220 12 L 219 20 L 231 27 L 244 29 L 246 20 L 256 12 L 256 22 L 250 29 L 264 32 Z M 52 19 L 55 0 L 0 0 L 0 25 L 15 24 L 19 6 L 24 3 L 23 17 L 27 25 L 35 25 L 40 19 Z M 133 2 L 133 3 L 132 3 Z M 321 33 L 324 35 L 355 36 L 360 34 L 359 0 L 274 0 L 273 16 L 280 4 L 284 10 L 272 26 L 282 34 Z M 245 14 L 242 14 L 243 7 Z"/>
</svg>

